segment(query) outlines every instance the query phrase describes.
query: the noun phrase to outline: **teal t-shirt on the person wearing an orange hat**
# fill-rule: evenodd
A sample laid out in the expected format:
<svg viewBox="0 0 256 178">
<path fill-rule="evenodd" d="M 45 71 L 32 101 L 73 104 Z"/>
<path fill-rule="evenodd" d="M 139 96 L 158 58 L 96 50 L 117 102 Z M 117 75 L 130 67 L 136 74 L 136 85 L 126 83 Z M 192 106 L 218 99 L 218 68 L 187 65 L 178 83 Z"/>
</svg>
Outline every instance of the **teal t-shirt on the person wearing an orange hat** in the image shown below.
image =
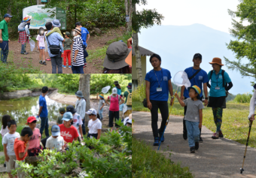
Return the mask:
<svg viewBox="0 0 256 178">
<path fill-rule="evenodd" d="M 221 69 L 222 71 L 222 69 Z M 210 75 L 211 75 L 211 71 L 209 71 L 208 73 L 208 79 L 211 80 L 211 89 L 210 89 L 210 93 L 209 96 L 212 97 L 221 97 L 221 96 L 226 96 L 226 91 L 225 88 L 223 86 L 223 80 L 222 80 L 222 75 L 221 75 L 221 71 L 218 72 L 218 75 L 215 74 L 215 71 L 212 72 L 212 79 L 210 79 Z M 230 83 L 230 76 L 227 74 L 227 72 L 224 72 L 224 84 L 226 85 L 226 83 Z M 218 87 L 220 87 L 220 89 L 215 89 L 215 87 L 217 86 L 218 83 Z"/>
</svg>

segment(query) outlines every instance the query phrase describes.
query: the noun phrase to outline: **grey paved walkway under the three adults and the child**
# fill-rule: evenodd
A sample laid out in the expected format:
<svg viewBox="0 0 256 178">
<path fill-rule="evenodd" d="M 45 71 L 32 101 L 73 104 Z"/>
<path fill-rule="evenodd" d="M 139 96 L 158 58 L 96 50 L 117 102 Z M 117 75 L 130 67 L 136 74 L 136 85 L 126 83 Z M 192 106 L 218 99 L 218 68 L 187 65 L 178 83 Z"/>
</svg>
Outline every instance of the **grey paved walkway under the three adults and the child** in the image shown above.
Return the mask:
<svg viewBox="0 0 256 178">
<path fill-rule="evenodd" d="M 152 146 L 152 149 L 157 150 L 158 146 L 153 146 L 151 113 L 133 111 L 133 119 L 133 135 L 145 140 Z M 165 141 L 160 146 L 160 152 L 166 150 L 163 152 L 166 158 L 169 158 L 169 152 L 172 152 L 172 161 L 181 162 L 182 167 L 190 167 L 196 178 L 256 177 L 256 149 L 248 147 L 245 171 L 240 174 L 245 145 L 226 138 L 212 140 L 212 131 L 203 126 L 203 143 L 200 143 L 200 148 L 196 153 L 190 153 L 187 140 L 182 137 L 182 119 L 181 116 L 170 117 L 165 131 Z M 161 120 L 159 115 L 158 127 L 160 127 Z M 167 150 L 168 145 L 169 150 Z"/>
</svg>

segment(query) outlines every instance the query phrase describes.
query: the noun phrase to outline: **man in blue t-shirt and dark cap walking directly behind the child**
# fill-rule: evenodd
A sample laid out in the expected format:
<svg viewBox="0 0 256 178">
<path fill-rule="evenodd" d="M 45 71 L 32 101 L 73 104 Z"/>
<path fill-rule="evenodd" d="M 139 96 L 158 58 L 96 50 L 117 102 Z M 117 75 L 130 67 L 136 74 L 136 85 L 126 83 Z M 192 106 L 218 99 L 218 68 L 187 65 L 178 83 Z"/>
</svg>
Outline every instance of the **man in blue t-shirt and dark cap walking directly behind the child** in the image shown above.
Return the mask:
<svg viewBox="0 0 256 178">
<path fill-rule="evenodd" d="M 208 104 L 208 91 L 207 91 L 207 82 L 208 75 L 206 71 L 203 69 L 200 69 L 200 64 L 202 62 L 202 55 L 200 53 L 196 53 L 193 58 L 194 66 L 190 68 L 186 68 L 185 72 L 187 73 L 187 77 L 190 79 L 190 77 L 193 77 L 190 79 L 191 86 L 198 86 L 200 87 L 201 91 L 205 93 L 205 106 Z M 200 70 L 200 71 L 199 71 Z M 197 74 L 196 74 L 197 73 Z M 196 75 L 194 75 L 196 74 Z M 202 89 L 203 88 L 203 89 Z M 203 99 L 203 92 L 200 94 L 200 100 Z M 188 90 L 185 88 L 185 86 L 181 87 L 181 100 L 189 98 Z M 184 107 L 184 115 L 186 115 L 187 107 Z M 187 128 L 185 124 L 185 120 L 183 119 L 183 138 L 184 140 L 187 140 Z M 203 142 L 203 139 L 201 137 L 201 128 L 200 128 L 200 142 Z"/>
</svg>

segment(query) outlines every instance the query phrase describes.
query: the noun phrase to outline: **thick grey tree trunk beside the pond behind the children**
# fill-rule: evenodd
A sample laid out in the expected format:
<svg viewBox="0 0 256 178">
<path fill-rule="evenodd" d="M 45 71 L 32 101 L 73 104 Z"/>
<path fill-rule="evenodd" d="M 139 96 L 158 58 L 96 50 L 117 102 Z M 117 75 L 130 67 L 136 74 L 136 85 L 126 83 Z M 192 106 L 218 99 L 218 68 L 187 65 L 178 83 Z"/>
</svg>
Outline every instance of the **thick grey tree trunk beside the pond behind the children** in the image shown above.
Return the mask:
<svg viewBox="0 0 256 178">
<path fill-rule="evenodd" d="M 90 110 L 90 74 L 80 74 L 79 90 L 83 92 L 84 98 L 87 101 L 86 111 Z M 86 123 L 89 121 L 89 117 L 85 114 Z M 87 125 L 87 124 L 86 124 Z"/>
</svg>

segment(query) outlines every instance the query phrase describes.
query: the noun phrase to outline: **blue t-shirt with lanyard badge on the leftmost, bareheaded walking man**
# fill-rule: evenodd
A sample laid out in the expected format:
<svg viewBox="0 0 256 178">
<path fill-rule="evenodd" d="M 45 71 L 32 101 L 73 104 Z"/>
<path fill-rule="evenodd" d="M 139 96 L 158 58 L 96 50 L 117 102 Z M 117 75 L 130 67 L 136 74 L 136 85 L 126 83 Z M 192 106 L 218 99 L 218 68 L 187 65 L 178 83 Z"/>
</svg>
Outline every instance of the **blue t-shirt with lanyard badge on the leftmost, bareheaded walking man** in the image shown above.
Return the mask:
<svg viewBox="0 0 256 178">
<path fill-rule="evenodd" d="M 157 74 L 157 77 L 156 75 Z M 151 70 L 146 74 L 145 80 L 150 82 L 150 94 L 149 99 L 154 101 L 168 101 L 169 98 L 169 86 L 168 82 L 171 80 L 172 76 L 170 71 L 167 69 L 162 68 L 161 71 L 154 71 Z M 162 87 L 162 92 L 157 92 L 157 88 Z M 162 79 L 162 82 L 161 82 Z"/>
</svg>

